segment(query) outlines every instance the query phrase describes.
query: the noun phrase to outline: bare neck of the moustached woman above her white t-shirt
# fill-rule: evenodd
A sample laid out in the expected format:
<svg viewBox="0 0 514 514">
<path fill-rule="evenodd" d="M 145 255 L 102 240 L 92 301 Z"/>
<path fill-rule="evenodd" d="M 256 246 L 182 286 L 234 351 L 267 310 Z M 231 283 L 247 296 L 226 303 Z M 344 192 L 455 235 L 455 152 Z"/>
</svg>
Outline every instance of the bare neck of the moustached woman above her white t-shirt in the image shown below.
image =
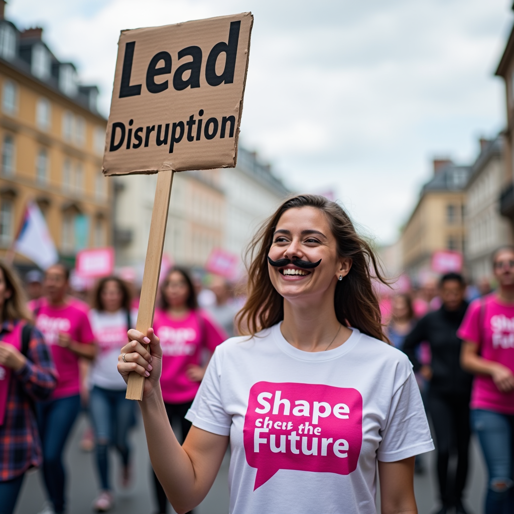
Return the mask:
<svg viewBox="0 0 514 514">
<path fill-rule="evenodd" d="M 291 304 L 284 299 L 284 321 L 280 327 L 285 340 L 304 352 L 334 350 L 351 336 L 350 328 L 342 326 L 334 310 L 334 295 L 326 295 L 316 305 Z"/>
</svg>

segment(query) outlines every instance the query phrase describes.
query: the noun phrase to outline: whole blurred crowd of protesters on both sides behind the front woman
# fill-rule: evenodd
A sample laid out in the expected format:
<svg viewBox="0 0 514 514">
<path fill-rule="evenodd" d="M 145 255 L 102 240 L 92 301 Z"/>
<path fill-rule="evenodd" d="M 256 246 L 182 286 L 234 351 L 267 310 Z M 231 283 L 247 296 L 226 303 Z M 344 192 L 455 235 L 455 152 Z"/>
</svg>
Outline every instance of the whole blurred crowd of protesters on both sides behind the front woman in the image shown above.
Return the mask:
<svg viewBox="0 0 514 514">
<path fill-rule="evenodd" d="M 500 248 L 492 264 L 495 291 L 489 281 L 472 288 L 460 274 L 447 273 L 427 280 L 414 298 L 402 292 L 390 300 L 387 334 L 413 364 L 436 440 L 439 514 L 468 512 L 463 491 L 472 431 L 489 475 L 485 514 L 514 512 L 514 249 Z M 154 318 L 163 349 L 163 399 L 182 440 L 207 363 L 234 335 L 237 311 L 221 277 L 211 278 L 209 291 L 198 297 L 199 289 L 187 270 L 172 268 L 160 285 Z M 33 467 L 42 470 L 49 500 L 42 513 L 66 511 L 63 451 L 81 403 L 87 403 L 94 436 L 99 495 L 93 508 L 114 505 L 109 448 L 119 454 L 121 484 L 131 484 L 135 402 L 125 399 L 116 365 L 135 326 L 137 300 L 114 276 L 100 280 L 90 298 L 87 305 L 69 295 L 62 264 L 44 274 L 30 271 L 24 288 L 0 262 L 0 514 L 12 514 Z M 87 370 L 83 383 L 81 368 Z M 456 466 L 450 466 L 452 456 Z M 419 460 L 416 468 L 423 470 Z M 163 514 L 166 494 L 151 472 Z"/>
</svg>

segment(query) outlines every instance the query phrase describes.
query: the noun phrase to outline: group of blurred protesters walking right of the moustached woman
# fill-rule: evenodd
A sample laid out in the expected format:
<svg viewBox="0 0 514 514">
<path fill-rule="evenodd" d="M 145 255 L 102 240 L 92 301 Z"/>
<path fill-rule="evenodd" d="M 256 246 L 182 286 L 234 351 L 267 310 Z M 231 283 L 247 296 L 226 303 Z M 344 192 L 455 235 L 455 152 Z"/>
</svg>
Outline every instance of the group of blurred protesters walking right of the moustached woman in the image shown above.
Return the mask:
<svg viewBox="0 0 514 514">
<path fill-rule="evenodd" d="M 389 306 L 388 336 L 411 360 L 432 423 L 437 514 L 472 512 L 463 504 L 472 432 L 488 470 L 485 514 L 514 512 L 514 248 L 497 250 L 492 268 L 493 292 L 489 280 L 467 286 L 450 272 Z"/>
</svg>

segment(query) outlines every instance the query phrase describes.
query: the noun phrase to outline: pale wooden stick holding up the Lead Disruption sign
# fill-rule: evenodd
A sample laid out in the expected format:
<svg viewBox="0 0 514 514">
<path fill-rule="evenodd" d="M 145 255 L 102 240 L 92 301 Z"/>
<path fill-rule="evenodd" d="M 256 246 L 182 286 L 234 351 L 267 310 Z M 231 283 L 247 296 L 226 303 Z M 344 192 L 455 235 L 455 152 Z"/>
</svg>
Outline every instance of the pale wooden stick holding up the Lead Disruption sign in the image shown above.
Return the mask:
<svg viewBox="0 0 514 514">
<path fill-rule="evenodd" d="M 170 208 L 171 185 L 173 183 L 171 170 L 159 171 L 157 174 L 157 189 L 155 190 L 154 208 L 150 223 L 150 237 L 148 249 L 144 261 L 143 283 L 141 285 L 141 298 L 137 315 L 136 330 L 146 334 L 146 331 L 154 322 L 155 297 L 159 285 L 159 273 L 162 260 L 162 248 L 166 223 L 168 221 L 168 209 Z M 125 398 L 129 400 L 142 400 L 144 377 L 133 371 L 128 375 L 127 393 Z"/>
</svg>

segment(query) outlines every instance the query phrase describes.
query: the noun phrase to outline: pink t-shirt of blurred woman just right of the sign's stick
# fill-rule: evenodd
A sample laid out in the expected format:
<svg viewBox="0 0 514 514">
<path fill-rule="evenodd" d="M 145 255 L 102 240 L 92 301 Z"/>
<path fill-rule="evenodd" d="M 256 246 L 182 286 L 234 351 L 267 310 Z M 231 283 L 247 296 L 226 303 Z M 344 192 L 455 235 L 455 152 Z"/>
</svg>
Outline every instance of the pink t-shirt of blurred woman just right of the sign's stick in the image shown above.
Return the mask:
<svg viewBox="0 0 514 514">
<path fill-rule="evenodd" d="M 191 311 L 186 318 L 177 320 L 156 309 L 153 328 L 162 347 L 163 400 L 167 403 L 191 401 L 200 383 L 188 378 L 189 366 L 200 365 L 202 350 L 214 352 L 216 346 L 227 339 L 226 334 L 199 311 Z"/>
</svg>

